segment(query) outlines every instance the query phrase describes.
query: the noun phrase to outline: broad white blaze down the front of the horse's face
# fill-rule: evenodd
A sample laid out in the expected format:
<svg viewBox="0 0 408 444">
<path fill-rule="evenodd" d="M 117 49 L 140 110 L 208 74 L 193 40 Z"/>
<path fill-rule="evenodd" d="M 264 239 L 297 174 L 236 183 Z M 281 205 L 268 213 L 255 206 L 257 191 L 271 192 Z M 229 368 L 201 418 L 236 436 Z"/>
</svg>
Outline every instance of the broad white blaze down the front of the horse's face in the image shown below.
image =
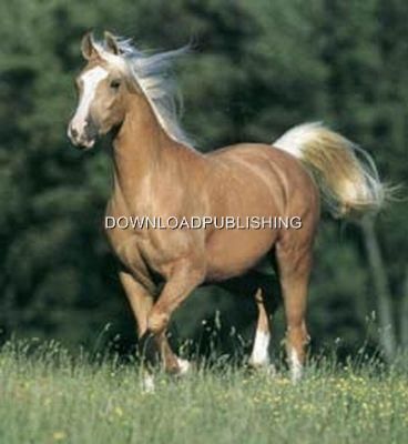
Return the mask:
<svg viewBox="0 0 408 444">
<path fill-rule="evenodd" d="M 82 134 L 86 125 L 86 117 L 89 114 L 89 109 L 92 100 L 95 95 L 98 84 L 101 80 L 108 77 L 108 71 L 102 67 L 95 67 L 91 70 L 84 72 L 81 75 L 83 82 L 83 91 L 81 95 L 80 103 L 76 108 L 75 115 L 71 121 L 71 128 L 74 129 L 78 134 Z"/>
</svg>

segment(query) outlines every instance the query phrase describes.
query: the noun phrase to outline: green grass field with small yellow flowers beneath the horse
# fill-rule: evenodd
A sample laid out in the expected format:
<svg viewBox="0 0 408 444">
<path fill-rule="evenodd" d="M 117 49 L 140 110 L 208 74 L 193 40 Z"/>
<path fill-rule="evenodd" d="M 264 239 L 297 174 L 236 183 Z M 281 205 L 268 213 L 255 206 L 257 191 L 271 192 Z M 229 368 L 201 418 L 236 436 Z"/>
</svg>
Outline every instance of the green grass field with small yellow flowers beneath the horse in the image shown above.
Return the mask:
<svg viewBox="0 0 408 444">
<path fill-rule="evenodd" d="M 293 385 L 228 367 L 157 375 L 142 393 L 136 365 L 90 363 L 55 345 L 0 353 L 0 443 L 407 443 L 400 367 L 312 364 Z"/>
</svg>

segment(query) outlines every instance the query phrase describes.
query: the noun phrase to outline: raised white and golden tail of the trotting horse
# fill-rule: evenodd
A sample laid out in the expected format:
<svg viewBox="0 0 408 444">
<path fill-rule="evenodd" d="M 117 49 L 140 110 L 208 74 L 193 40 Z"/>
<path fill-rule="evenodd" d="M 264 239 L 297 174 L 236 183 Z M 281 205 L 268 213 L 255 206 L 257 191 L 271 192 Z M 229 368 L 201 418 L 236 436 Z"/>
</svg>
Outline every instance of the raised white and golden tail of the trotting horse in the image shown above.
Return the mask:
<svg viewBox="0 0 408 444">
<path fill-rule="evenodd" d="M 384 205 L 386 188 L 370 155 L 322 123 L 295 127 L 273 145 L 312 172 L 334 216 L 359 218 Z"/>
</svg>

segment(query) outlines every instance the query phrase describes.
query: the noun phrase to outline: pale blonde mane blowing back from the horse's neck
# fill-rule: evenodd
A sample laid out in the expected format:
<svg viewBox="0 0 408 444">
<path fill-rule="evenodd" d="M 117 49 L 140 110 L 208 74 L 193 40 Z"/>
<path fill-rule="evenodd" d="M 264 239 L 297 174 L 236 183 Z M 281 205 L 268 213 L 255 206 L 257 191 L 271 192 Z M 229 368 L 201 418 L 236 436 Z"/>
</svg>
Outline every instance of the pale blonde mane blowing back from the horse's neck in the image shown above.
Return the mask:
<svg viewBox="0 0 408 444">
<path fill-rule="evenodd" d="M 173 61 L 185 54 L 188 48 L 149 54 L 137 50 L 129 39 L 116 38 L 116 42 L 118 56 L 110 52 L 104 43 L 94 44 L 102 59 L 121 68 L 137 83 L 167 135 L 176 142 L 193 145 L 180 123 L 182 99 L 171 70 Z"/>
</svg>

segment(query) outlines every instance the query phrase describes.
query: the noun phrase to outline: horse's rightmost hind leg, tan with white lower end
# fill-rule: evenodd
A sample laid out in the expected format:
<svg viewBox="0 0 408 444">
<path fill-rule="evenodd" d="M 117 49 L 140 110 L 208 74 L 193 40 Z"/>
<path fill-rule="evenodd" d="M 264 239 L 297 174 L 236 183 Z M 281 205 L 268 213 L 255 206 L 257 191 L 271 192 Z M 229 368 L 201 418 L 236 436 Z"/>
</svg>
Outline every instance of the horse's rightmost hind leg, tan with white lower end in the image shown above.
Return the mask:
<svg viewBox="0 0 408 444">
<path fill-rule="evenodd" d="M 312 246 L 287 249 L 277 245 L 276 256 L 286 316 L 286 352 L 290 379 L 302 377 L 305 363 L 305 347 L 309 342 L 306 329 L 306 300 L 312 268 Z"/>
</svg>

